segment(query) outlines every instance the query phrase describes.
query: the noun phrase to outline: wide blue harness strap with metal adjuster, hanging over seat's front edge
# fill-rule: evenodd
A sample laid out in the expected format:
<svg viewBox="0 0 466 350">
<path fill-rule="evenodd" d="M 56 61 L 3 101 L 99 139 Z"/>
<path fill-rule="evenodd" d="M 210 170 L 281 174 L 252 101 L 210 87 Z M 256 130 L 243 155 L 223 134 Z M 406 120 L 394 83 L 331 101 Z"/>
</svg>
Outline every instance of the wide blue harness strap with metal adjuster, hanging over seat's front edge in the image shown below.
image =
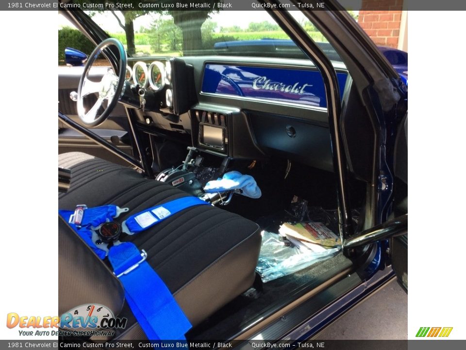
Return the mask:
<svg viewBox="0 0 466 350">
<path fill-rule="evenodd" d="M 130 242 L 110 248 L 108 259 L 123 284 L 134 316 L 150 340 L 185 340 L 191 324 L 165 283 Z"/>
</svg>

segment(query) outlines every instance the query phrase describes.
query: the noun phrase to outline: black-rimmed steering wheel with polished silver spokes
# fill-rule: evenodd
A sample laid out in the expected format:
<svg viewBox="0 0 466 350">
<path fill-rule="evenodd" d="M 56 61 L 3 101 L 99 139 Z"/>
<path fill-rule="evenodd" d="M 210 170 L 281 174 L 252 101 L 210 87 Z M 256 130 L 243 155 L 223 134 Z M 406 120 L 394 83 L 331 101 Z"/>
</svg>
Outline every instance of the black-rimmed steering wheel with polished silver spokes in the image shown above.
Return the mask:
<svg viewBox="0 0 466 350">
<path fill-rule="evenodd" d="M 94 64 L 94 61 L 97 59 L 103 49 L 111 45 L 116 46 L 120 56 L 118 76 L 116 76 L 112 68 L 109 68 L 103 75 L 100 82 L 96 83 L 89 80 L 89 70 Z M 114 38 L 103 40 L 90 54 L 78 86 L 78 117 L 81 119 L 84 125 L 89 127 L 99 125 L 108 118 L 110 112 L 115 108 L 125 84 L 126 62 L 127 58 L 125 48 L 120 41 Z M 96 92 L 99 93 L 97 102 L 88 111 L 86 111 L 83 103 L 84 97 L 90 93 Z M 105 107 L 103 113 L 98 116 L 97 113 L 105 100 L 107 100 L 107 106 Z"/>
</svg>

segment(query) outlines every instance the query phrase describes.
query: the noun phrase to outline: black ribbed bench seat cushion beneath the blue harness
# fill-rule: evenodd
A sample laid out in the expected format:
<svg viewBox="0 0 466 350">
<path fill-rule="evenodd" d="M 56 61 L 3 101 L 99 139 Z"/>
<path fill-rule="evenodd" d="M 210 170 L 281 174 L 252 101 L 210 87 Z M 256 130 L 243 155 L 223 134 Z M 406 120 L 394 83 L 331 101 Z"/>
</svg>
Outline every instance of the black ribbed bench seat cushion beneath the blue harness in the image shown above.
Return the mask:
<svg viewBox="0 0 466 350">
<path fill-rule="evenodd" d="M 70 188 L 58 196 L 60 209 L 73 210 L 77 204 L 128 207 L 129 212 L 116 219 L 121 222 L 141 210 L 187 196 L 133 169 L 83 153 L 59 155 L 59 166 L 71 169 Z M 146 250 L 147 261 L 195 325 L 252 285 L 261 236 L 258 225 L 250 220 L 198 206 L 121 240 Z"/>
</svg>

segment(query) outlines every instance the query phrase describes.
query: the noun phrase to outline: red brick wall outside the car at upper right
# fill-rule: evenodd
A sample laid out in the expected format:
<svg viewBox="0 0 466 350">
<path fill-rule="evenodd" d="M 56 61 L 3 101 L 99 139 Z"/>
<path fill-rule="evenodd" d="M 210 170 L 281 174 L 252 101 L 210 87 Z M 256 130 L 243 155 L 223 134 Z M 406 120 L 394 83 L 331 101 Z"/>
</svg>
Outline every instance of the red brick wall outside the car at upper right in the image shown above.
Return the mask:
<svg viewBox="0 0 466 350">
<path fill-rule="evenodd" d="M 403 0 L 363 0 L 358 23 L 381 46 L 397 48 Z"/>
</svg>

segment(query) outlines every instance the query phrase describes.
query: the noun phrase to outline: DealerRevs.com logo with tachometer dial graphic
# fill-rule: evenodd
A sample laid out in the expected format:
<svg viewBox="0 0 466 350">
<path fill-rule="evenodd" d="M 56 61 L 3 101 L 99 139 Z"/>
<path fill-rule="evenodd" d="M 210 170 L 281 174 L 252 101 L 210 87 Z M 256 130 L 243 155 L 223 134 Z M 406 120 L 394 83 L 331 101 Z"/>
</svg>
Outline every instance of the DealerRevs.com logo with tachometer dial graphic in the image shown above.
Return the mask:
<svg viewBox="0 0 466 350">
<path fill-rule="evenodd" d="M 104 305 L 84 304 L 61 316 L 19 316 L 9 313 L 6 326 L 10 329 L 19 327 L 19 335 L 113 336 L 115 329 L 126 327 L 127 321 L 126 317 L 115 317 Z"/>
</svg>

